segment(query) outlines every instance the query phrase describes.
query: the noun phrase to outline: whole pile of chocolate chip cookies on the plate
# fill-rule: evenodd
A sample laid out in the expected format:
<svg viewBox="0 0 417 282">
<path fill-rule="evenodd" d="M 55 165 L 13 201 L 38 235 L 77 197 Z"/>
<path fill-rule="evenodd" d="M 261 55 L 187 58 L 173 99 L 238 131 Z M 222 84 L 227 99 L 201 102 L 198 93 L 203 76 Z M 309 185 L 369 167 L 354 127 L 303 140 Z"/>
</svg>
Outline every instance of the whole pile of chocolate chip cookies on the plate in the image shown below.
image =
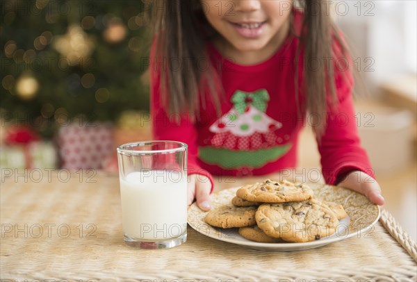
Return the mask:
<svg viewBox="0 0 417 282">
<path fill-rule="evenodd" d="M 343 206 L 313 198 L 305 184 L 270 179 L 238 189 L 231 204 L 211 210 L 206 223 L 239 227 L 256 242 L 309 242 L 336 232 Z"/>
</svg>

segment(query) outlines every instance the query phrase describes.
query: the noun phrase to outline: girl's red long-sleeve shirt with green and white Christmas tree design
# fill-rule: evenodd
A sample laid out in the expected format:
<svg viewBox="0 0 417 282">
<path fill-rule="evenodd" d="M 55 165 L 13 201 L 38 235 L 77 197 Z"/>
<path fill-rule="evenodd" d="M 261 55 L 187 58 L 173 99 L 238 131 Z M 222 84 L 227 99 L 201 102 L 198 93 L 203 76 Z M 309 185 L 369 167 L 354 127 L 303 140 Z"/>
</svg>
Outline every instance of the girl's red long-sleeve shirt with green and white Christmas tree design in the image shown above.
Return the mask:
<svg viewBox="0 0 417 282">
<path fill-rule="evenodd" d="M 300 23 L 300 15 L 295 17 L 297 22 Z M 201 108 L 199 119 L 183 113 L 179 122 L 174 121 L 179 115 L 169 116 L 161 106 L 159 73 L 154 60 L 155 65 L 151 65 L 154 138 L 188 144 L 188 174 L 208 176 L 212 184 L 211 175 L 262 175 L 294 168 L 300 129 L 313 121 L 305 110 L 297 114 L 297 103 L 304 101 L 303 93 L 300 101 L 295 95 L 293 60 L 298 44 L 297 37 L 288 35 L 271 58 L 256 65 L 238 65 L 207 44 L 211 63 L 218 66 L 221 62 L 218 74 L 225 98 L 222 116 L 218 116 L 215 106 L 208 101 Z M 334 50 L 337 53 L 336 43 Z M 338 104 L 328 107 L 327 113 L 318 119 L 327 122 L 318 149 L 322 174 L 329 184 L 340 181 L 351 170 L 373 176 L 357 133 L 352 76 L 345 65 L 349 61 L 336 56 L 332 62 L 336 67 Z M 299 74 L 302 80 L 301 66 Z"/>
</svg>

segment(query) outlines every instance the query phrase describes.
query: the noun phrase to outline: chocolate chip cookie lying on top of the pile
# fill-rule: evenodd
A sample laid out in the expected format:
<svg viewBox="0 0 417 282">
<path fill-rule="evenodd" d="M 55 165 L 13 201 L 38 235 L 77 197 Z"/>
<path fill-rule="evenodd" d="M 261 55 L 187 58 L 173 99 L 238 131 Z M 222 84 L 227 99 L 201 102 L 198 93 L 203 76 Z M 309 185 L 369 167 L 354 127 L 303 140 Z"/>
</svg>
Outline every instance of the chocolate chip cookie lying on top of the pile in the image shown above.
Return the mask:
<svg viewBox="0 0 417 282">
<path fill-rule="evenodd" d="M 270 179 L 254 185 L 245 185 L 236 191 L 236 196 L 247 201 L 263 203 L 285 203 L 304 201 L 313 197 L 313 190 L 305 184 L 290 181 L 272 181 Z"/>
</svg>

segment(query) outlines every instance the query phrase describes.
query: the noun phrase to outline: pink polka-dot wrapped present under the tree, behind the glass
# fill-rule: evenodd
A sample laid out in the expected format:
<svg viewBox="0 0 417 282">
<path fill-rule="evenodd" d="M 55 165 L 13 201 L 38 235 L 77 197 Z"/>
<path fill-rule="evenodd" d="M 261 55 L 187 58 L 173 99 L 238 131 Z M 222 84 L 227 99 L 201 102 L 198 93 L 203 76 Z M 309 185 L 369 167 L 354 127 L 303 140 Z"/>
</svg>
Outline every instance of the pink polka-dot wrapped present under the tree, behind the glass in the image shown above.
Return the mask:
<svg viewBox="0 0 417 282">
<path fill-rule="evenodd" d="M 113 124 L 74 123 L 58 131 L 61 167 L 67 169 L 101 169 L 113 150 Z"/>
</svg>

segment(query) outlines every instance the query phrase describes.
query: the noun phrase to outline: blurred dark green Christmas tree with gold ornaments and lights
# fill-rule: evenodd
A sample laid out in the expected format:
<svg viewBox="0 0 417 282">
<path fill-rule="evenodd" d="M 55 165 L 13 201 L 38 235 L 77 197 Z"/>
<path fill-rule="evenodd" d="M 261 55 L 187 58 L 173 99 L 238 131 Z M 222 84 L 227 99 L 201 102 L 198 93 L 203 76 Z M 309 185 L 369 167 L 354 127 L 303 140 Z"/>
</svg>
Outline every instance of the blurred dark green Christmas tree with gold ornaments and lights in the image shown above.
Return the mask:
<svg viewBox="0 0 417 282">
<path fill-rule="evenodd" d="M 1 115 L 44 137 L 148 110 L 149 1 L 1 1 Z"/>
</svg>

